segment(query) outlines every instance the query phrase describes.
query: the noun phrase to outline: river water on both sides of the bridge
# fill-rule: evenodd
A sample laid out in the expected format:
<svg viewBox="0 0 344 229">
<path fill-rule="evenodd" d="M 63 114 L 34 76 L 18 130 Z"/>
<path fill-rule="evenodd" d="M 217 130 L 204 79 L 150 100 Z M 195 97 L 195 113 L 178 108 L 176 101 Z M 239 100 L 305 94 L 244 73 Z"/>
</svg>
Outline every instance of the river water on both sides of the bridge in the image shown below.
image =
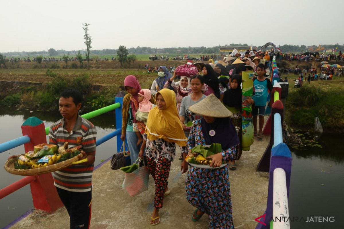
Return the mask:
<svg viewBox="0 0 344 229">
<path fill-rule="evenodd" d="M 11 110 L 0 110 L 0 143 L 22 136 L 20 126 L 31 116 L 42 119 L 45 126 L 50 126 L 60 119 L 58 113 L 25 112 L 18 114 Z M 97 128 L 97 138 L 115 130 L 115 115 L 101 115 L 90 121 Z M 344 190 L 344 145 L 341 144 L 343 137 L 343 135 L 323 134 L 319 139 L 319 144 L 323 148 L 292 149 L 289 215 L 294 220 L 291 222 L 291 228 L 343 228 L 344 220 L 341 216 L 344 204 L 342 195 Z M 114 150 L 116 150 L 116 138 L 98 146 L 95 164 L 112 156 Z M 20 146 L 0 153 L 0 162 L 4 163 L 10 155 L 23 152 L 24 147 Z M 19 175 L 9 174 L 4 169 L 0 169 L 0 176 L 0 188 L 22 178 Z M 32 207 L 29 185 L 1 199 L 0 228 L 8 225 Z M 317 218 L 315 219 L 315 217 Z M 319 220 L 318 217 L 324 217 L 329 222 L 312 222 Z M 334 222 L 330 222 L 333 219 Z"/>
</svg>

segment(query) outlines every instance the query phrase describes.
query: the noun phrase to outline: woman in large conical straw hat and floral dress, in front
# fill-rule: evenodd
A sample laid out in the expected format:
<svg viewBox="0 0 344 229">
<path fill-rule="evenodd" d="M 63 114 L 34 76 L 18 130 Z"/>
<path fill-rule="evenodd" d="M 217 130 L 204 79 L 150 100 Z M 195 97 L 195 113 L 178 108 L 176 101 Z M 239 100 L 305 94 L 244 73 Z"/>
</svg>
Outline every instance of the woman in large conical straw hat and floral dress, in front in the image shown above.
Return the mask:
<svg viewBox="0 0 344 229">
<path fill-rule="evenodd" d="M 228 168 L 217 168 L 223 161 L 235 158 L 236 146 L 240 144 L 236 129 L 229 119 L 232 112 L 214 94 L 190 106 L 189 110 L 202 115 L 191 128 L 187 142 L 189 154 L 197 145 L 219 143 L 222 148 L 222 152 L 207 157 L 212 159 L 209 165 L 212 169 L 190 167 L 185 188 L 186 199 L 196 207 L 191 219 L 197 221 L 206 213 L 209 217 L 209 228 L 233 229 Z"/>
</svg>

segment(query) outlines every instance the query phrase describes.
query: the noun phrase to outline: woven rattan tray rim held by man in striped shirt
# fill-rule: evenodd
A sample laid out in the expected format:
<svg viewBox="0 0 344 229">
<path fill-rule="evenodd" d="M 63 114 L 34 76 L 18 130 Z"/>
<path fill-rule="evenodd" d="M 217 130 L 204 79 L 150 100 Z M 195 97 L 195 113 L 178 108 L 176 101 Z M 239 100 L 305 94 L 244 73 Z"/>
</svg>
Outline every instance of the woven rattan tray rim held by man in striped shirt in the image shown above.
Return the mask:
<svg viewBox="0 0 344 229">
<path fill-rule="evenodd" d="M 4 167 L 7 172 L 12 173 L 12 174 L 22 175 L 22 176 L 32 176 L 32 175 L 51 173 L 57 170 L 61 170 L 63 168 L 68 167 L 69 165 L 71 165 L 73 162 L 77 160 L 79 160 L 79 158 L 78 156 L 75 156 L 71 159 L 62 161 L 60 163 L 48 165 L 46 167 L 41 167 L 41 168 L 36 168 L 36 169 L 14 169 L 14 162 L 17 161 L 17 158 L 11 158 L 10 160 L 6 161 Z"/>
</svg>

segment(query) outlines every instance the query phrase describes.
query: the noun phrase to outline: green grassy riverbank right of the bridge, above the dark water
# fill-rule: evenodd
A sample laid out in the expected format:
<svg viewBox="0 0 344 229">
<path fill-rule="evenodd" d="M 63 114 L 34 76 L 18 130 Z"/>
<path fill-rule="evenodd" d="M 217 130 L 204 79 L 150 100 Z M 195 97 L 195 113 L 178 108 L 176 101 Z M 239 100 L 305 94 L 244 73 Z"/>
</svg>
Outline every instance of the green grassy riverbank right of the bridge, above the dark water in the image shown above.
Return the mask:
<svg viewBox="0 0 344 229">
<path fill-rule="evenodd" d="M 289 74 L 289 94 L 286 100 L 286 122 L 297 129 L 312 129 L 319 117 L 324 131 L 344 133 L 344 78 L 303 82 L 293 88 L 297 75 Z M 286 75 L 284 75 L 286 76 Z"/>
</svg>

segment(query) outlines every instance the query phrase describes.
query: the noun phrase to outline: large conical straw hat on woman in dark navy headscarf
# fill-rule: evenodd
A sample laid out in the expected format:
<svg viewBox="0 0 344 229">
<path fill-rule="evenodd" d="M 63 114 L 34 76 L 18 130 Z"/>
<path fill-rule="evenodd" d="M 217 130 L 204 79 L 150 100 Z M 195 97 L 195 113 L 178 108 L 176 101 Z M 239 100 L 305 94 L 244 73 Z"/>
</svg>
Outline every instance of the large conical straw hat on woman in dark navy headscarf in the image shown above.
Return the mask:
<svg viewBox="0 0 344 229">
<path fill-rule="evenodd" d="M 230 117 L 233 115 L 214 94 L 189 107 L 189 111 L 203 116 L 216 118 Z"/>
</svg>

